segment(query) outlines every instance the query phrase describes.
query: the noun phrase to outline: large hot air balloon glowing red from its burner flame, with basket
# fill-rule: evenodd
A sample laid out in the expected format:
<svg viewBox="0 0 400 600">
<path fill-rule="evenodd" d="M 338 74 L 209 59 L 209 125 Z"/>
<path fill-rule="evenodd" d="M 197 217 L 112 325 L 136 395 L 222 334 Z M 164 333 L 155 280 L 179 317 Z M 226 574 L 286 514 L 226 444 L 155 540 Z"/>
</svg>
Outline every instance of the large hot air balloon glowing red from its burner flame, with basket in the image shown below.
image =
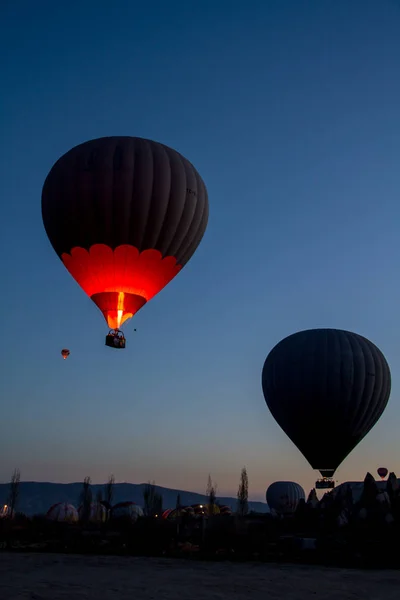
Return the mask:
<svg viewBox="0 0 400 600">
<path fill-rule="evenodd" d="M 64 266 L 101 310 L 106 345 L 190 260 L 208 222 L 207 190 L 181 154 L 105 137 L 72 148 L 42 191 L 43 224 Z"/>
</svg>

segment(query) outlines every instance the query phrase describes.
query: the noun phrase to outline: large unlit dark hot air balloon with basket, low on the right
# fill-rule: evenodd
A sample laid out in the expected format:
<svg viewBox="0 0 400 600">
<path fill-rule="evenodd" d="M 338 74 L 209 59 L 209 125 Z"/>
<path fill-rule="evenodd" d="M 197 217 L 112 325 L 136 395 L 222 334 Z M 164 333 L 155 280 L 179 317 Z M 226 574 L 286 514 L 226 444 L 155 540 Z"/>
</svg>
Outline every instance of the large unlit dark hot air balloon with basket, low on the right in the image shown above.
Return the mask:
<svg viewBox="0 0 400 600">
<path fill-rule="evenodd" d="M 271 350 L 262 388 L 283 431 L 313 469 L 331 478 L 385 410 L 391 377 L 382 352 L 366 338 L 310 329 Z"/>
</svg>

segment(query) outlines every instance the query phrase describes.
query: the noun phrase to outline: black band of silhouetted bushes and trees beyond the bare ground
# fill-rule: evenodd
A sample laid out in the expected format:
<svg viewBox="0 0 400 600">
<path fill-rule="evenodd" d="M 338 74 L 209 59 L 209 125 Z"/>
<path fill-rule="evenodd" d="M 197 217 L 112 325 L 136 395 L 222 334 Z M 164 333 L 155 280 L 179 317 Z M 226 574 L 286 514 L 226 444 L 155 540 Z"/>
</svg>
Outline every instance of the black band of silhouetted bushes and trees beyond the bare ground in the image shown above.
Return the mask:
<svg viewBox="0 0 400 600">
<path fill-rule="evenodd" d="M 343 484 L 305 500 L 292 484 L 270 486 L 272 514 L 232 514 L 229 507 L 193 505 L 144 515 L 134 502 L 53 505 L 46 516 L 0 518 L 0 546 L 24 551 L 199 556 L 230 560 L 291 560 L 344 566 L 400 567 L 400 482 Z M 287 483 L 287 482 L 286 482 Z M 0 515 L 1 516 L 1 515 Z"/>
</svg>

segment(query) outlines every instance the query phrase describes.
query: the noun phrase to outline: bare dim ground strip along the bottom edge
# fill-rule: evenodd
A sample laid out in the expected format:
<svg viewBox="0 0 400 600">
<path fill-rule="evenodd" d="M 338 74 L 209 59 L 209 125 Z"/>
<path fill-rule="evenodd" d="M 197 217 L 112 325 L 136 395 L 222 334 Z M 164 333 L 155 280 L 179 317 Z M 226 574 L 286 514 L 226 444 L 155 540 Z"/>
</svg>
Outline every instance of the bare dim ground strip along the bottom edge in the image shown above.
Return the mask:
<svg viewBox="0 0 400 600">
<path fill-rule="evenodd" d="M 400 571 L 0 553 L 1 600 L 399 600 Z"/>
</svg>

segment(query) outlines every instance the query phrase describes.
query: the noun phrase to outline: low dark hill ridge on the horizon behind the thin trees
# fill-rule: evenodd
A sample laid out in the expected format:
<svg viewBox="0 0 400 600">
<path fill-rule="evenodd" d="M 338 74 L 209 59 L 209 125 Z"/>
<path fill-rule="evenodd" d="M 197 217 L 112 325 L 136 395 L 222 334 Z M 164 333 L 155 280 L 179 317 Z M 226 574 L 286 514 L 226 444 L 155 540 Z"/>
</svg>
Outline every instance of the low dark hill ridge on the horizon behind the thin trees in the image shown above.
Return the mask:
<svg viewBox="0 0 400 600">
<path fill-rule="evenodd" d="M 143 505 L 144 483 L 116 483 L 114 487 L 114 504 L 131 500 Z M 93 497 L 97 491 L 103 489 L 103 485 L 92 485 Z M 176 497 L 181 496 L 183 505 L 202 504 L 206 502 L 206 496 L 183 490 L 173 490 L 156 486 L 157 492 L 163 497 L 163 507 L 173 508 L 176 505 Z M 52 504 L 56 502 L 70 502 L 74 506 L 79 503 L 79 495 L 82 483 L 47 483 L 36 481 L 21 481 L 17 510 L 28 516 L 47 512 Z M 8 483 L 0 483 L 0 506 L 7 502 L 9 491 Z M 218 502 L 236 509 L 236 498 L 218 498 Z M 264 502 L 249 501 L 249 510 L 257 512 L 268 512 L 268 506 Z"/>
</svg>

